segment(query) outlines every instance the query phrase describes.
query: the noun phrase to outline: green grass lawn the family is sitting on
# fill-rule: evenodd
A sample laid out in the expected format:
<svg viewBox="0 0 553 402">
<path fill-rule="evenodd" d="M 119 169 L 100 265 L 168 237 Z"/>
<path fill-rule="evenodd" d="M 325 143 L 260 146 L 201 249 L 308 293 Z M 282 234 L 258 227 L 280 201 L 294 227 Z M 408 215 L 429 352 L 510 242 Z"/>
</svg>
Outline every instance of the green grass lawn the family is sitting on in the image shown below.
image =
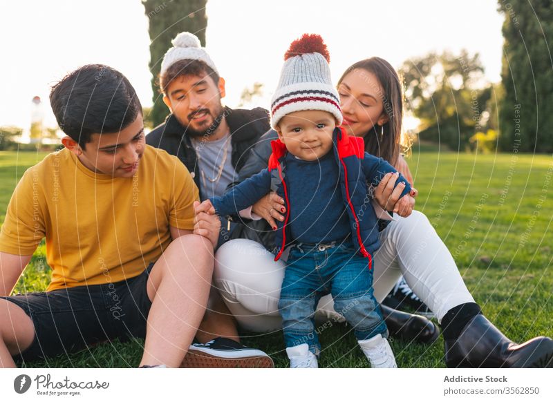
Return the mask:
<svg viewBox="0 0 553 402">
<path fill-rule="evenodd" d="M 44 153 L 0 152 L 0 216 L 24 170 Z M 451 253 L 487 317 L 516 341 L 553 335 L 551 155 L 469 155 L 416 146 L 409 160 L 423 211 Z M 49 267 L 41 245 L 16 291 L 44 290 Z M 277 367 L 288 364 L 281 333 L 243 334 Z M 350 327 L 321 333 L 320 367 L 367 367 Z M 433 345 L 392 341 L 400 367 L 444 367 L 442 339 Z M 30 367 L 135 367 L 142 341 L 106 343 Z"/>
</svg>

